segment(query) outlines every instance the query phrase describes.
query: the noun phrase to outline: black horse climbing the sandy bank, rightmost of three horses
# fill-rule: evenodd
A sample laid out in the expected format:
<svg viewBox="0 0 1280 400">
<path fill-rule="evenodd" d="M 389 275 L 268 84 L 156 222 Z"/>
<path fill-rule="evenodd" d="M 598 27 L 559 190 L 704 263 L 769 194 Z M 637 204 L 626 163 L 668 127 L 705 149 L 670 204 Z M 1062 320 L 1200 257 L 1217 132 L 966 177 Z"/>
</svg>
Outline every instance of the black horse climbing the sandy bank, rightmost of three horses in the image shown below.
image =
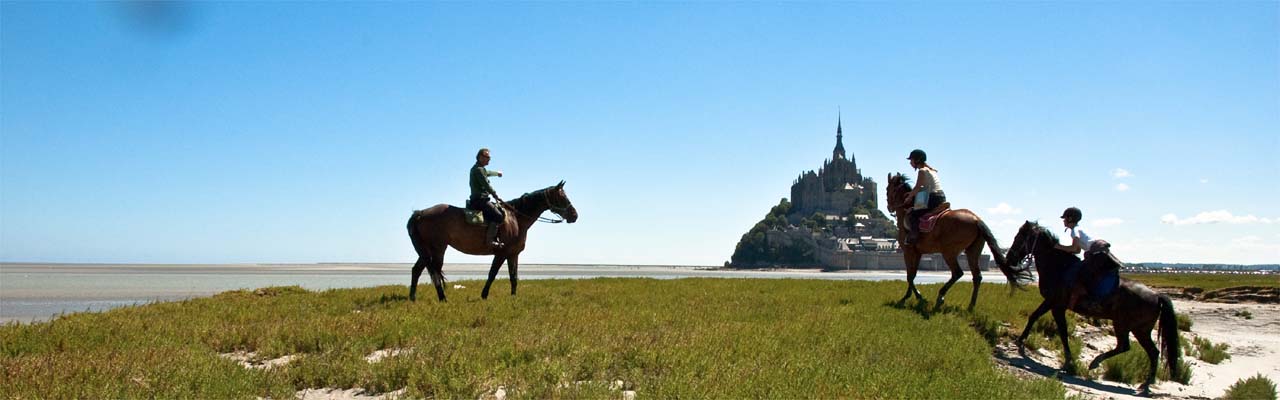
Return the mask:
<svg viewBox="0 0 1280 400">
<path fill-rule="evenodd" d="M 1009 247 L 1009 262 L 1021 263 L 1027 255 L 1036 258 L 1036 273 L 1039 276 L 1039 292 L 1044 297 L 1036 312 L 1027 319 L 1027 328 L 1018 337 L 1018 346 L 1021 349 L 1023 341 L 1030 333 L 1036 319 L 1046 312 L 1053 312 L 1053 322 L 1057 324 L 1057 336 L 1062 340 L 1064 369 L 1073 360 L 1071 347 L 1066 341 L 1066 304 L 1070 296 L 1070 286 L 1074 285 L 1069 274 L 1069 268 L 1080 262 L 1074 254 L 1059 250 L 1053 245 L 1057 237 L 1047 228 L 1028 221 L 1018 229 L 1014 245 Z M 1091 263 L 1117 263 L 1110 254 L 1094 254 L 1089 256 Z M 1119 265 L 1112 265 L 1119 267 Z M 1170 377 L 1179 378 L 1178 356 L 1179 337 L 1178 319 L 1174 317 L 1174 303 L 1169 296 L 1157 294 L 1142 283 L 1120 279 L 1120 287 L 1101 301 L 1079 301 L 1073 312 L 1093 318 L 1111 319 L 1115 327 L 1116 347 L 1103 353 L 1089 363 L 1089 369 L 1098 368 L 1102 360 L 1129 350 L 1129 333 L 1138 338 L 1138 344 L 1147 351 L 1151 374 L 1142 385 L 1142 391 L 1148 392 L 1151 383 L 1156 382 L 1156 363 L 1160 359 L 1160 350 L 1151 341 L 1151 329 L 1160 322 L 1160 341 L 1165 351 L 1165 363 Z"/>
</svg>

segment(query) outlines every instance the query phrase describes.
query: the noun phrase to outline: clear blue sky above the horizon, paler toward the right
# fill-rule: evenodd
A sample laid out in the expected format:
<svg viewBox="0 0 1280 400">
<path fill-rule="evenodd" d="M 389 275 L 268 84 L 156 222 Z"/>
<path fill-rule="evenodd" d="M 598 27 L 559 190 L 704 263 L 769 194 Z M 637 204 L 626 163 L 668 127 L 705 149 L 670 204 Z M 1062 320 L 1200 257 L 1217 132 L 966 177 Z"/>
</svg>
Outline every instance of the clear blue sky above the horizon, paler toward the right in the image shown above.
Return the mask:
<svg viewBox="0 0 1280 400">
<path fill-rule="evenodd" d="M 1007 245 L 1280 263 L 1276 3 L 0 5 L 0 260 L 411 262 L 412 209 L 566 179 L 525 263 L 721 264 L 845 146 Z M 878 194 L 883 197 L 883 194 Z M 883 199 L 882 199 L 883 203 Z M 448 262 L 486 262 L 451 251 Z"/>
</svg>

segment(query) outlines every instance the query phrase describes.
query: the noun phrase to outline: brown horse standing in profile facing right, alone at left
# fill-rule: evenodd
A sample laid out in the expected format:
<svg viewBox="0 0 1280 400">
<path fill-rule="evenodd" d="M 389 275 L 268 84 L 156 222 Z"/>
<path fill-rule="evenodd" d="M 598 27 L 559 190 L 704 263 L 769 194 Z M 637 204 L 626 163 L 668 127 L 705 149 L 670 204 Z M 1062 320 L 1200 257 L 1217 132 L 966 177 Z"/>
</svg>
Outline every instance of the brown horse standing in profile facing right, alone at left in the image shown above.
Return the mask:
<svg viewBox="0 0 1280 400">
<path fill-rule="evenodd" d="M 503 262 L 507 263 L 507 272 L 511 273 L 511 294 L 516 295 L 516 269 L 520 264 L 520 253 L 525 250 L 529 227 L 543 219 L 540 215 L 547 210 L 561 215 L 568 223 L 577 221 L 577 209 L 564 195 L 564 181 L 511 200 L 503 204 L 503 209 L 507 215 L 506 222 L 498 229 L 498 237 L 504 246 L 497 250 L 485 242 L 485 227 L 468 224 L 461 208 L 438 204 L 425 210 L 413 212 L 408 217 L 408 238 L 413 242 L 413 250 L 417 251 L 417 263 L 413 263 L 413 279 L 408 287 L 408 299 L 417 300 L 417 278 L 422 274 L 422 269 L 428 268 L 431 285 L 435 286 L 435 295 L 440 301 L 445 301 L 443 268 L 444 251 L 449 246 L 471 255 L 493 255 L 489 281 L 484 283 L 480 297 L 489 299 L 489 286 L 493 285 Z"/>
</svg>

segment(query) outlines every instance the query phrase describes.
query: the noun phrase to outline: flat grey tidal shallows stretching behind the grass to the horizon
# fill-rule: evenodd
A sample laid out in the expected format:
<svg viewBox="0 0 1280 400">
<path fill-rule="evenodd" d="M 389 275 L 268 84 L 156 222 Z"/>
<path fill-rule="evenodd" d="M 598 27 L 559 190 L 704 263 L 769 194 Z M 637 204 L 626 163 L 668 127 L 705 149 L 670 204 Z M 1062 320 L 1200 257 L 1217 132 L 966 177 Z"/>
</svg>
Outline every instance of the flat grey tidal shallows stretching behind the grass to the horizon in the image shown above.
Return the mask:
<svg viewBox="0 0 1280 400">
<path fill-rule="evenodd" d="M 266 286 L 308 290 L 408 285 L 410 264 L 0 264 L 0 323 L 45 321 L 63 313 L 172 301 Z M 905 279 L 901 271 L 709 271 L 707 267 L 524 264 L 521 279 L 634 277 L 678 279 Z M 485 279 L 489 265 L 445 264 L 449 281 Z M 920 272 L 916 283 L 945 282 L 948 274 Z M 507 268 L 497 281 L 508 278 Z M 969 276 L 965 274 L 965 281 Z M 425 274 L 420 285 L 430 285 Z M 499 285 L 494 282 L 494 285 Z M 506 285 L 503 282 L 502 285 Z"/>
</svg>

